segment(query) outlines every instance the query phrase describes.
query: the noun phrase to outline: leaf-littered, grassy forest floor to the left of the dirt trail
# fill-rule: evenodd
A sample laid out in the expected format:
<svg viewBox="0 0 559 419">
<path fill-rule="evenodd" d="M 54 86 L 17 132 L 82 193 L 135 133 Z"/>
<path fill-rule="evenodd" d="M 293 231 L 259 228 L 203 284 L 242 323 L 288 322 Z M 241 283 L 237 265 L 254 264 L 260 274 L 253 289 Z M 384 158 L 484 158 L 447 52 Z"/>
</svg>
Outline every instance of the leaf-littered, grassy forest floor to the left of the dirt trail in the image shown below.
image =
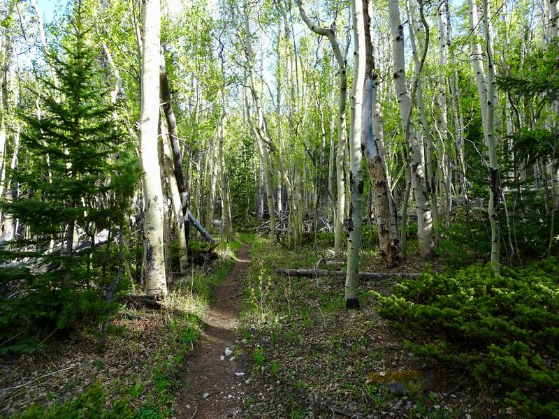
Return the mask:
<svg viewBox="0 0 559 419">
<path fill-rule="evenodd" d="M 175 278 L 159 309 L 115 311 L 101 350 L 97 328 L 86 327 L 64 336 L 48 331 L 56 339 L 45 339 L 40 351 L 0 358 L 0 418 L 175 417 L 184 405 L 177 397 L 184 365 L 204 319 L 212 325 L 215 316 L 208 318 L 212 291 L 230 272 L 242 274 L 234 259 L 240 247 L 220 244 L 218 260 Z"/>
</svg>

